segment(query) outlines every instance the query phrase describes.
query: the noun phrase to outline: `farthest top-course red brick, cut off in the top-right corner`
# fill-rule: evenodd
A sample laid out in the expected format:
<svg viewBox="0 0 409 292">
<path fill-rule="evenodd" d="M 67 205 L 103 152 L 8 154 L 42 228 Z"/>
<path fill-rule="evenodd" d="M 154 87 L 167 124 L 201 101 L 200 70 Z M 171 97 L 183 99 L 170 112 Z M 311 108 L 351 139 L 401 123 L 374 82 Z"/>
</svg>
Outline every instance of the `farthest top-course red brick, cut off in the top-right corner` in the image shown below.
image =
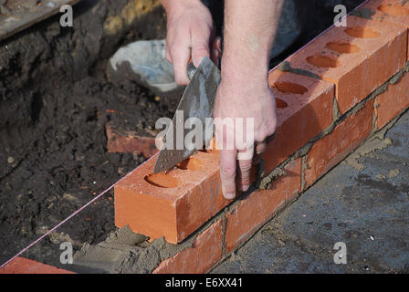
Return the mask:
<svg viewBox="0 0 409 292">
<path fill-rule="evenodd" d="M 370 9 L 371 18 L 383 23 L 392 23 L 409 28 L 409 2 L 403 0 L 372 0 L 361 9 Z M 409 50 L 408 50 L 409 60 Z"/>
</svg>

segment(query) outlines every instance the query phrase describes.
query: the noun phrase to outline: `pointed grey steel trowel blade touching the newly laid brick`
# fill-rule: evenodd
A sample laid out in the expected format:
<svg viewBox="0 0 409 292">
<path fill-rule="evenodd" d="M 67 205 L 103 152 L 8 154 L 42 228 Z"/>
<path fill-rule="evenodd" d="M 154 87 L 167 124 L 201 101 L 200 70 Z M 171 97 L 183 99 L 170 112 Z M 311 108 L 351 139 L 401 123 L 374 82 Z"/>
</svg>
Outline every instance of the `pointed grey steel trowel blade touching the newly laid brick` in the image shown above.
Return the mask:
<svg viewBox="0 0 409 292">
<path fill-rule="evenodd" d="M 164 172 L 189 158 L 195 151 L 203 149 L 213 138 L 213 109 L 215 95 L 220 83 L 220 70 L 205 57 L 198 68 L 190 63 L 190 79 L 164 136 L 163 145 L 153 172 Z M 201 127 L 201 129 L 196 129 Z M 186 143 L 187 135 L 194 130 L 201 137 Z M 190 140 L 189 140 L 190 141 Z"/>
</svg>

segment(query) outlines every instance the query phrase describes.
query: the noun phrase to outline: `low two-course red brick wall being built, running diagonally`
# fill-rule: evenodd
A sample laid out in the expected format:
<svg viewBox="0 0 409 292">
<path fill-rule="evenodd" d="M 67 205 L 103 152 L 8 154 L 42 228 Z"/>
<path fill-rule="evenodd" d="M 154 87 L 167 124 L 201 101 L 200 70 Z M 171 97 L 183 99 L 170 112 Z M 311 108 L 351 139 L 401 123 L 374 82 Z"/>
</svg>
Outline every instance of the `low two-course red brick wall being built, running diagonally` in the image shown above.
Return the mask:
<svg viewBox="0 0 409 292">
<path fill-rule="evenodd" d="M 364 9 L 364 10 L 362 10 Z M 370 12 L 372 19 L 358 17 Z M 367 14 L 361 14 L 367 15 Z M 204 273 L 279 209 L 409 107 L 409 3 L 373 0 L 269 73 L 277 136 L 257 181 L 231 203 L 222 195 L 219 153 L 199 151 L 178 169 L 153 174 L 157 154 L 115 187 L 115 223 L 173 244 L 194 245 L 153 273 Z"/>
</svg>

